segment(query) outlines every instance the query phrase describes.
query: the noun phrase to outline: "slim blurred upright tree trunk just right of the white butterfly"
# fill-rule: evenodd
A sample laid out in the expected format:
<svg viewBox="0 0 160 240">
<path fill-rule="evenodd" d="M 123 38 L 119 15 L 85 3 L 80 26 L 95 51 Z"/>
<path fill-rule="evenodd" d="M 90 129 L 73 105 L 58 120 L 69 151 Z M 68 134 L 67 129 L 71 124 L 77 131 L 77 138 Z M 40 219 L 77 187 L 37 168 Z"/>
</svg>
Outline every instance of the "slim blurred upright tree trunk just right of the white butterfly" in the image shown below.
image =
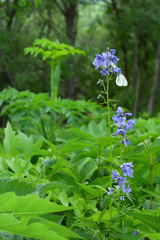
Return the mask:
<svg viewBox="0 0 160 240">
<path fill-rule="evenodd" d="M 138 103 L 139 103 L 139 86 L 140 86 L 140 72 L 139 72 L 139 40 L 136 40 L 135 49 L 135 103 L 134 103 L 134 117 L 137 115 Z"/>
</svg>

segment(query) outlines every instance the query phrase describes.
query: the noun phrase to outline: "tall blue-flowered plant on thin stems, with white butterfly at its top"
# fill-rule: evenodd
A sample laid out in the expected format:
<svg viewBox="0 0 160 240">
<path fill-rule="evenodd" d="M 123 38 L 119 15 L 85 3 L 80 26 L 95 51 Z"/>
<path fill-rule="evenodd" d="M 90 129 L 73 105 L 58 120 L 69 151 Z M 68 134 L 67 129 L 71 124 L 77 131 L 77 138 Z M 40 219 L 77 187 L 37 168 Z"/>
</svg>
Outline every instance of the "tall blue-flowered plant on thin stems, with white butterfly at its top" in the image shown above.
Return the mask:
<svg viewBox="0 0 160 240">
<path fill-rule="evenodd" d="M 129 119 L 127 121 L 127 117 L 131 117 L 132 113 L 125 113 L 121 107 L 117 108 L 116 114 L 112 117 L 112 120 L 114 121 L 114 125 L 117 127 L 116 134 L 112 134 L 112 129 L 111 129 L 111 123 L 110 123 L 110 102 L 111 100 L 109 99 L 109 82 L 114 76 L 114 74 L 117 75 L 116 77 L 116 84 L 118 86 L 127 86 L 128 82 L 125 76 L 122 74 L 121 68 L 117 67 L 117 62 L 119 61 L 118 57 L 115 55 L 116 50 L 111 49 L 107 50 L 106 52 L 103 52 L 101 55 L 97 54 L 96 58 L 93 61 L 93 65 L 95 66 L 95 69 L 101 69 L 100 73 L 102 76 L 106 76 L 106 82 L 107 86 L 105 85 L 105 80 L 99 79 L 97 84 L 100 84 L 103 89 L 106 97 L 103 97 L 105 100 L 105 103 L 107 103 L 107 109 L 108 109 L 108 129 L 109 129 L 109 149 L 110 149 L 110 186 L 108 187 L 108 195 L 116 194 L 118 193 L 118 209 L 119 209 L 119 215 L 120 215 L 120 201 L 125 201 L 125 194 L 126 196 L 129 195 L 129 193 L 132 191 L 131 186 L 128 183 L 129 178 L 133 178 L 133 164 L 132 162 L 121 162 L 120 163 L 120 168 L 122 171 L 123 176 L 115 171 L 112 170 L 113 168 L 113 144 L 112 144 L 112 137 L 113 135 L 121 135 L 123 139 L 121 140 L 121 145 L 124 144 L 125 147 L 127 147 L 130 142 L 128 140 L 128 137 L 126 136 L 127 130 L 132 130 L 133 125 L 135 124 L 135 120 Z M 98 96 L 98 98 L 101 95 Z M 122 152 L 120 153 L 121 155 L 121 161 L 122 159 Z M 114 181 L 114 182 L 113 182 Z M 116 184 L 116 185 L 115 185 Z M 117 191 L 115 191 L 117 190 Z M 110 198 L 110 219 L 112 219 L 112 198 Z M 104 212 L 102 212 L 99 216 L 99 221 L 102 219 Z"/>
</svg>

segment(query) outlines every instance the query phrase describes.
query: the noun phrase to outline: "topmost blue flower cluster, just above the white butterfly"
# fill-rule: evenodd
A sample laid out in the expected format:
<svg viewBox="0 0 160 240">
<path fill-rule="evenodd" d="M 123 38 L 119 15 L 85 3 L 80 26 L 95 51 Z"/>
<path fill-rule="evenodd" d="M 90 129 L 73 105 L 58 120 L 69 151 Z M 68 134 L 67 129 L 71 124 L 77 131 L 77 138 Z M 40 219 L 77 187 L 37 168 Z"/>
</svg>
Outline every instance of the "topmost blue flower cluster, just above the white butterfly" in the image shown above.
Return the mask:
<svg viewBox="0 0 160 240">
<path fill-rule="evenodd" d="M 102 76 L 109 75 L 109 72 L 116 73 L 117 75 L 122 73 L 121 68 L 116 66 L 119 59 L 115 56 L 115 52 L 115 49 L 111 49 L 110 51 L 103 52 L 102 55 L 96 55 L 93 65 L 95 66 L 95 69 L 98 69 L 99 67 L 102 69 L 100 71 Z"/>
</svg>

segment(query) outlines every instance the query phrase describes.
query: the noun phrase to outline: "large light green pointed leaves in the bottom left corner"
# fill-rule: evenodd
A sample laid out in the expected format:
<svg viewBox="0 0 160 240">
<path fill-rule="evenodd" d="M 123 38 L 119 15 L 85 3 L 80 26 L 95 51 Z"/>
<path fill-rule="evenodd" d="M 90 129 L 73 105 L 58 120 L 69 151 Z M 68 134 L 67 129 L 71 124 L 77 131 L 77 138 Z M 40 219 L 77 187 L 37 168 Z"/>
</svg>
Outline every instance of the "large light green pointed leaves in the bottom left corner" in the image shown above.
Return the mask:
<svg viewBox="0 0 160 240">
<path fill-rule="evenodd" d="M 43 218 L 44 214 L 71 210 L 37 195 L 0 194 L 0 230 L 38 239 L 82 239 L 71 230 Z"/>
</svg>

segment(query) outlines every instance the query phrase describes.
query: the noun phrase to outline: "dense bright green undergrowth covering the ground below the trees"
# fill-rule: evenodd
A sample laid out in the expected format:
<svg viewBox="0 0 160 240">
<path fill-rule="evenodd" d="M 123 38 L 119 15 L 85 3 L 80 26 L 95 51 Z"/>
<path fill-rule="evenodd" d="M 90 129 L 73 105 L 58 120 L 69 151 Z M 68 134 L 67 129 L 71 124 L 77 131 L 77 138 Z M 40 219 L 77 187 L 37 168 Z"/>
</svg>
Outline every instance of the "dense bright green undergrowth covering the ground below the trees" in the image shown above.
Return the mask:
<svg viewBox="0 0 160 240">
<path fill-rule="evenodd" d="M 10 120 L 0 145 L 1 239 L 158 239 L 159 119 L 136 119 L 127 148 L 112 136 L 114 169 L 132 161 L 134 175 L 120 212 L 112 197 L 111 221 L 105 108 L 13 89 L 1 106 Z"/>
</svg>

